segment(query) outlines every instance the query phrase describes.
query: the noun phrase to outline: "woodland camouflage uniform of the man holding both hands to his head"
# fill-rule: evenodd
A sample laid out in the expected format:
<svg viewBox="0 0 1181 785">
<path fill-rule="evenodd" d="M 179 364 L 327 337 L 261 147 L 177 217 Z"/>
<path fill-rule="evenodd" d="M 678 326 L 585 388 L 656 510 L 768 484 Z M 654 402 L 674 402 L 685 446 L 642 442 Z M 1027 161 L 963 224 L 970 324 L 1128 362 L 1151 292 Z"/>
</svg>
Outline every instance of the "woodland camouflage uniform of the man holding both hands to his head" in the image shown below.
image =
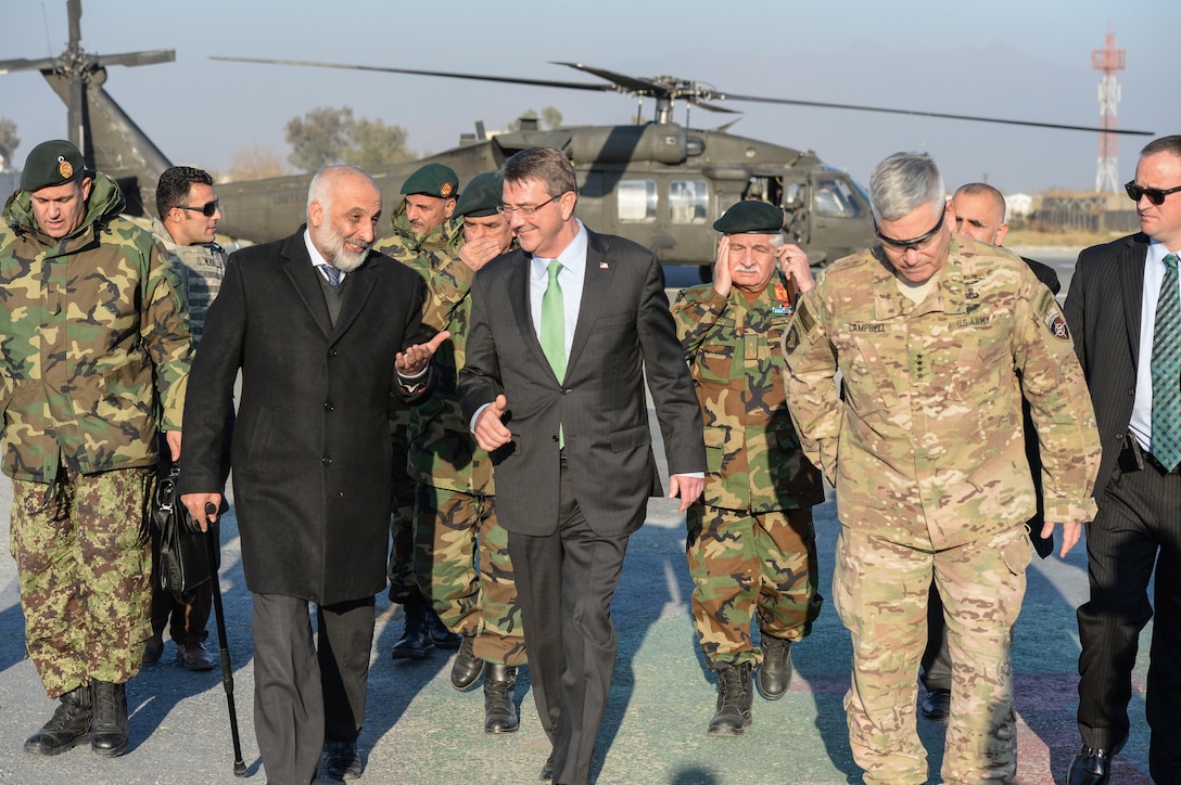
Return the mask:
<svg viewBox="0 0 1181 785">
<path fill-rule="evenodd" d="M 686 557 L 715 668 L 759 663 L 753 617 L 764 635 L 801 641 L 823 601 L 811 506 L 824 490 L 788 414 L 779 344 L 791 316 L 779 280 L 752 302 L 703 283 L 672 308 L 704 418 L 705 492 L 686 515 Z"/>
</svg>

